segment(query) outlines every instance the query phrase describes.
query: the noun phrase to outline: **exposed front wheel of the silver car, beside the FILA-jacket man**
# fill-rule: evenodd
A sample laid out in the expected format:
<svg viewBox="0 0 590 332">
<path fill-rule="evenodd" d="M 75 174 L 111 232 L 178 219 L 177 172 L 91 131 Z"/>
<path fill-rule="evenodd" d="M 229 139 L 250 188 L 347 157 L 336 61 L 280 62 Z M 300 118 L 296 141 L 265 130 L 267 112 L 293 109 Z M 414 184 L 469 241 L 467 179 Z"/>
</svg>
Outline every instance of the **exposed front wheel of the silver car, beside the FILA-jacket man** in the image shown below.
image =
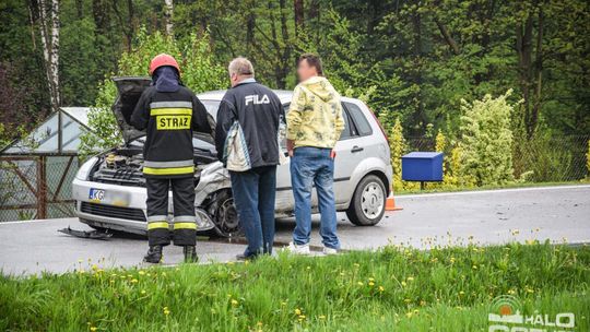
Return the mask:
<svg viewBox="0 0 590 332">
<path fill-rule="evenodd" d="M 228 189 L 222 190 L 213 198 L 213 223 L 215 224 L 215 234 L 221 237 L 235 238 L 243 236 L 239 227 L 234 198 Z"/>
</svg>

